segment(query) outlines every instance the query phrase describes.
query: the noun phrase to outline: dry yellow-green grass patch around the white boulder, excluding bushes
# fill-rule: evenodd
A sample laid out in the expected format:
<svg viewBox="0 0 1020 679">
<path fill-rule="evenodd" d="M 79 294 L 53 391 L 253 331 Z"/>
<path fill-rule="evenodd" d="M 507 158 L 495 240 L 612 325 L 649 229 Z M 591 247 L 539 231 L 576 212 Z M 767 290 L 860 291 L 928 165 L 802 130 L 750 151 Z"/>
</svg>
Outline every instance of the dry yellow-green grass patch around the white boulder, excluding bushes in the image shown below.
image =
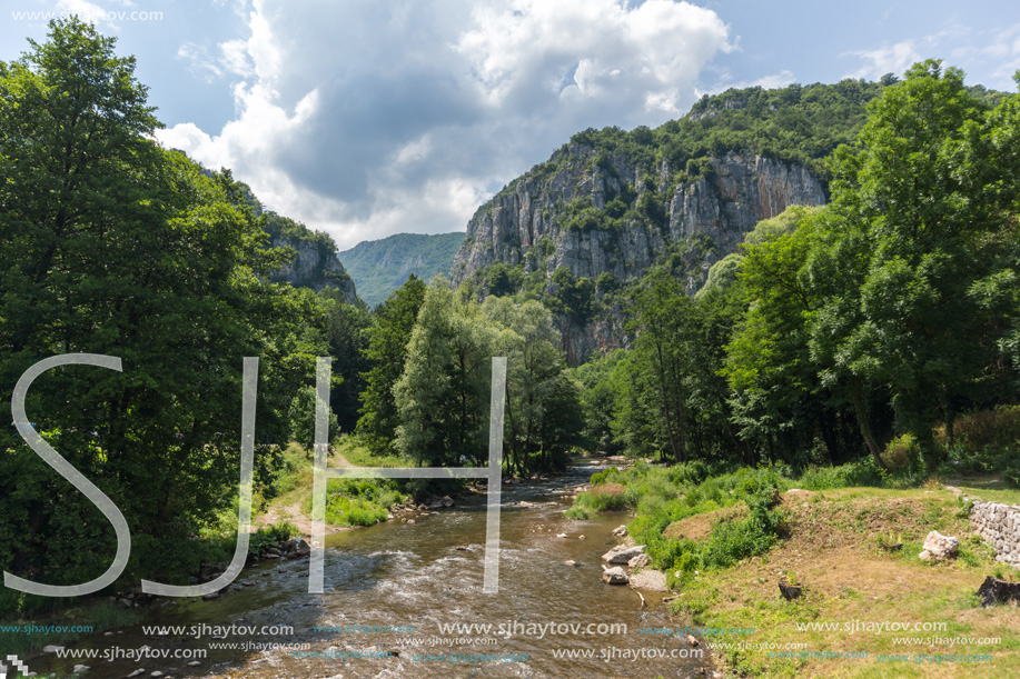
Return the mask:
<svg viewBox="0 0 1020 679">
<path fill-rule="evenodd" d="M 793 493 L 791 493 L 793 495 Z M 1020 676 L 1020 609 L 982 609 L 974 596 L 996 570 L 991 550 L 970 536 L 959 503 L 945 490 L 929 492 L 848 488 L 788 501 L 785 537 L 762 556 L 696 576 L 673 603 L 673 613 L 695 625 L 753 627 L 754 643 L 803 645 L 804 651 L 866 652 L 868 658 L 769 657 L 768 650 L 722 645 L 716 658 L 746 677 L 1016 677 Z M 951 562 L 918 559 L 927 532 L 938 528 L 961 538 Z M 903 542 L 889 551 L 889 535 Z M 785 601 L 778 581 L 796 572 L 801 599 Z M 854 631 L 854 621 L 944 623 L 939 631 Z M 833 629 L 798 629 L 830 623 Z M 1000 643 L 952 646 L 894 639 L 998 638 Z M 883 662 L 881 655 L 991 653 L 991 662 Z"/>
</svg>

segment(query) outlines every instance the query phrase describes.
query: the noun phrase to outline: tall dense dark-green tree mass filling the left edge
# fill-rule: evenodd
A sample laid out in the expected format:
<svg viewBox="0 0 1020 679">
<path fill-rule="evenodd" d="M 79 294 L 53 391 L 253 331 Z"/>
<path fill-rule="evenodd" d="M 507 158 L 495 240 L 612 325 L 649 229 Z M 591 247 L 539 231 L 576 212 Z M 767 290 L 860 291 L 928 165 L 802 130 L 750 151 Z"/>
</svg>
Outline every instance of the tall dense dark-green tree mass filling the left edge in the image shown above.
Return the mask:
<svg viewBox="0 0 1020 679">
<path fill-rule="evenodd" d="M 135 61 L 77 19 L 0 63 L 0 398 L 56 353 L 122 359 L 40 378 L 28 412 L 123 511 L 126 577 L 197 569 L 187 539 L 236 496 L 241 358 L 263 358 L 260 442 L 325 350 L 310 294 L 275 286 L 274 252 L 229 173 L 151 141 Z M 28 447 L 0 438 L 0 566 L 49 583 L 96 577 L 112 530 Z M 257 471 L 271 451 L 259 447 Z"/>
</svg>

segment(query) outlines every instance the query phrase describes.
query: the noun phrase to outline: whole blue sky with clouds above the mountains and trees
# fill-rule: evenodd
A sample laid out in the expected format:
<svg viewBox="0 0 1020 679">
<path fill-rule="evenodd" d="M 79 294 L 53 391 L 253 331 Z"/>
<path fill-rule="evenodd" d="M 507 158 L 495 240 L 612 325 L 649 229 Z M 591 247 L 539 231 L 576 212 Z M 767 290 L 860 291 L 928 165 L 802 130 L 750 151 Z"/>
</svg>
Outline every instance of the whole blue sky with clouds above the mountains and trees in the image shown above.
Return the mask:
<svg viewBox="0 0 1020 679">
<path fill-rule="evenodd" d="M 730 87 L 943 59 L 1016 91 L 1020 6 L 928 0 L 2 0 L 0 60 L 77 13 L 137 59 L 157 139 L 339 248 L 463 231 L 585 128 L 656 127 Z M 42 13 L 39 13 L 42 12 Z M 33 14 L 34 13 L 34 14 Z"/>
</svg>

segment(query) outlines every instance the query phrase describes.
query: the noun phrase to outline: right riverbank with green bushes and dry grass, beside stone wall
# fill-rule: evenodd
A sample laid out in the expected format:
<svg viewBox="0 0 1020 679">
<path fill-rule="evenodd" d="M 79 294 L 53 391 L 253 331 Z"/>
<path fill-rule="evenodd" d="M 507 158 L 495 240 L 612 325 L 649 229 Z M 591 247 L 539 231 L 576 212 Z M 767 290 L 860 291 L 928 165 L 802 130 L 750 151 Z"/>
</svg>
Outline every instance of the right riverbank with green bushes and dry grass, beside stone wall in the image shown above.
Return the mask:
<svg viewBox="0 0 1020 679">
<path fill-rule="evenodd" d="M 593 475 L 566 516 L 602 511 L 631 512 L 675 628 L 744 630 L 702 638 L 726 676 L 1020 676 L 1020 608 L 978 596 L 1018 572 L 976 535 L 958 488 L 870 462 L 795 475 L 638 460 Z"/>
</svg>

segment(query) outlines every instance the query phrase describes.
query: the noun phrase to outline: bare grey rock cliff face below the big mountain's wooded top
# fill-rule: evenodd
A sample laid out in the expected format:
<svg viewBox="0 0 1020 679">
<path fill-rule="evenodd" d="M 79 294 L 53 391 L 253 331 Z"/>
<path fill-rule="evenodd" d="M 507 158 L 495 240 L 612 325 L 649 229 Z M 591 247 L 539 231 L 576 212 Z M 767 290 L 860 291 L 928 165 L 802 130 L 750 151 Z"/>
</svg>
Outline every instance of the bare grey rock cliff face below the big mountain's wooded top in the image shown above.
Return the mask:
<svg viewBox="0 0 1020 679">
<path fill-rule="evenodd" d="M 652 169 L 657 178 L 648 179 L 648 168 L 621 153 L 606 156 L 581 142 L 565 144 L 547 163 L 478 209 L 454 258 L 450 282 L 456 287 L 498 261 L 509 269 L 523 267 L 525 276 L 541 271 L 545 293 L 555 294 L 552 276 L 559 268 L 577 279 L 596 281 L 608 273 L 624 283 L 643 276 L 667 249 L 680 249 L 687 270 L 685 286 L 693 293 L 712 263 L 734 252 L 760 220 L 792 204 L 825 202 L 820 181 L 804 166 L 750 152 L 730 152 L 706 162 L 710 167 L 701 176 L 689 179 L 664 160 Z M 653 200 L 643 198 L 645 192 Z M 613 219 L 596 223 L 570 218 L 584 208 L 604 211 L 614 199 L 620 200 L 614 202 Z M 624 199 L 628 203 L 620 202 Z M 621 214 L 624 204 L 658 207 Z M 597 290 L 596 297 L 603 292 Z M 618 307 L 581 322 L 561 316 L 557 324 L 573 365 L 595 351 L 627 346 Z"/>
</svg>

